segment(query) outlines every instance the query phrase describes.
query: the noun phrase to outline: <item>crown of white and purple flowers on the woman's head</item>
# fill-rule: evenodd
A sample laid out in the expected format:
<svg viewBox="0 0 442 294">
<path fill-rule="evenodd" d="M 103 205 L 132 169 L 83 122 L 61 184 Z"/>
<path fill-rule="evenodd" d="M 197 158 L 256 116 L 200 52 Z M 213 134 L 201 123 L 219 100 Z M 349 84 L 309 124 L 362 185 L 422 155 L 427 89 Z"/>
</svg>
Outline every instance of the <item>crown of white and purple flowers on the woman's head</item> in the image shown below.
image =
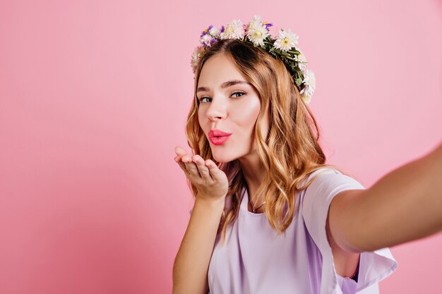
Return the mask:
<svg viewBox="0 0 442 294">
<path fill-rule="evenodd" d="M 298 35 L 291 30 L 280 30 L 277 37 L 270 35 L 269 27 L 272 23 L 261 22 L 261 16 L 254 16 L 253 20 L 244 25 L 241 20 L 232 20 L 225 27 L 218 30 L 213 25 L 201 32 L 201 45 L 193 51 L 191 66 L 196 72 L 198 61 L 205 51 L 221 39 L 240 39 L 251 42 L 255 47 L 261 47 L 275 59 L 280 59 L 289 71 L 297 86 L 301 98 L 309 104 L 316 88 L 316 78 L 313 71 L 306 68 L 306 57 L 295 45 L 298 44 Z"/>
</svg>

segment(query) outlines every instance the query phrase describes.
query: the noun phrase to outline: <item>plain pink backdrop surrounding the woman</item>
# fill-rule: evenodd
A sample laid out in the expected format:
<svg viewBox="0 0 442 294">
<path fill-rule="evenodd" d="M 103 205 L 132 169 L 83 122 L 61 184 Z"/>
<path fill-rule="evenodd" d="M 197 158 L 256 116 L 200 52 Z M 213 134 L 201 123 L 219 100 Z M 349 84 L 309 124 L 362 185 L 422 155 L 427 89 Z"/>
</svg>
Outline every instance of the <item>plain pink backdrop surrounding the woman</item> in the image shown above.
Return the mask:
<svg viewBox="0 0 442 294">
<path fill-rule="evenodd" d="M 330 163 L 366 187 L 426 154 L 441 142 L 441 7 L 1 1 L 0 293 L 171 292 L 192 206 L 174 147 L 210 24 L 261 14 L 299 35 Z M 441 247 L 393 247 L 382 293 L 442 293 Z"/>
</svg>

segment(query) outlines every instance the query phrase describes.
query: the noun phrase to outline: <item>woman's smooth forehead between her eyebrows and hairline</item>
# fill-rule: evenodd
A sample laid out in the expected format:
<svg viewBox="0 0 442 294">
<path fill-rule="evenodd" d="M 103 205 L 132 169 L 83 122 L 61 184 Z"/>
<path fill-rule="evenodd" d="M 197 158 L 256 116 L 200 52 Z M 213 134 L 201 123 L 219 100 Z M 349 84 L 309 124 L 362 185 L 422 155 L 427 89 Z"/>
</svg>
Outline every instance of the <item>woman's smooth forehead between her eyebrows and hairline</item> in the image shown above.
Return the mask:
<svg viewBox="0 0 442 294">
<path fill-rule="evenodd" d="M 216 54 L 205 61 L 198 79 L 198 87 L 219 87 L 226 80 L 244 80 L 232 59 L 226 54 Z"/>
</svg>

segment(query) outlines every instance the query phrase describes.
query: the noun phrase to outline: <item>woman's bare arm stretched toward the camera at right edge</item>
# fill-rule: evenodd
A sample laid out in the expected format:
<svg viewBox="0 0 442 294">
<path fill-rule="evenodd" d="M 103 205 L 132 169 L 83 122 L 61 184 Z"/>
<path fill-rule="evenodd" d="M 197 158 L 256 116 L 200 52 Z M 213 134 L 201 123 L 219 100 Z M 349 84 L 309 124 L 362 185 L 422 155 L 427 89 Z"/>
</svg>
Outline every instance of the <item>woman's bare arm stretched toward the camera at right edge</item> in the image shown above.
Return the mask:
<svg viewBox="0 0 442 294">
<path fill-rule="evenodd" d="M 348 252 L 374 251 L 442 230 L 442 145 L 367 190 L 340 192 L 328 226 Z"/>
</svg>

